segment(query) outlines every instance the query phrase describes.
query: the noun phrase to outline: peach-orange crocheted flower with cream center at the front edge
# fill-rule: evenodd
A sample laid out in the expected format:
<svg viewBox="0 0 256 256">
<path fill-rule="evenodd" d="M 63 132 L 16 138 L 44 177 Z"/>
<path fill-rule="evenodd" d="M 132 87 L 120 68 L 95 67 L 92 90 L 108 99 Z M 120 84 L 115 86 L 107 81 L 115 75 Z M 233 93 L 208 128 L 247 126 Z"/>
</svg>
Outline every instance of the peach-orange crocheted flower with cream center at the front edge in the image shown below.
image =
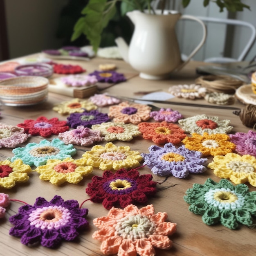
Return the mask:
<svg viewBox="0 0 256 256">
<path fill-rule="evenodd" d="M 166 222 L 167 218 L 166 212 L 155 213 L 152 204 L 141 209 L 133 204 L 124 210 L 112 207 L 107 216 L 93 220 L 99 230 L 92 234 L 92 238 L 102 242 L 104 255 L 154 256 L 154 247 L 172 247 L 168 236 L 176 231 L 176 223 Z"/>
</svg>

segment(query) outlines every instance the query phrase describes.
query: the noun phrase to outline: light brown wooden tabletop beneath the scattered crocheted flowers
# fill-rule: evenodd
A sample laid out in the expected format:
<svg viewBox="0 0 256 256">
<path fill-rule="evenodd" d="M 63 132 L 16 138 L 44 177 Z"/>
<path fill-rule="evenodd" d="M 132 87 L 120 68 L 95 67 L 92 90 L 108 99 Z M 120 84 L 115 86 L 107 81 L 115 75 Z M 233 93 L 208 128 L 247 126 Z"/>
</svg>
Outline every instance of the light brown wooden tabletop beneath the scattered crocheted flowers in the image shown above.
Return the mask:
<svg viewBox="0 0 256 256">
<path fill-rule="evenodd" d="M 56 61 L 59 63 L 72 63 L 72 61 Z M 152 91 L 162 90 L 168 92 L 168 88 L 171 85 L 177 84 L 191 84 L 197 77 L 195 74 L 195 67 L 202 63 L 191 62 L 184 67 L 179 73 L 173 75 L 169 80 L 164 81 L 150 81 L 141 79 L 135 70 L 123 61 L 120 60 L 107 60 L 101 58 L 94 58 L 89 62 L 79 61 L 76 64 L 83 66 L 88 72 L 98 70 L 98 66 L 101 63 L 116 63 L 118 72 L 124 74 L 132 74 L 132 78 L 124 83 L 114 85 L 103 92 L 109 94 L 136 97 L 134 92 L 137 91 Z M 75 63 L 75 62 L 73 62 Z M 17 125 L 22 123 L 25 119 L 36 119 L 39 116 L 45 116 L 48 119 L 58 117 L 60 120 L 66 120 L 66 116 L 59 115 L 53 111 L 52 108 L 55 103 L 70 100 L 71 97 L 62 96 L 61 94 L 49 93 L 49 97 L 46 102 L 40 103 L 36 106 L 27 107 L 9 107 L 1 106 L 1 123 L 8 125 Z M 184 99 L 172 99 L 173 101 L 188 101 Z M 189 101 L 196 103 L 206 103 L 204 100 Z M 166 105 L 160 105 L 155 103 L 154 105 L 166 108 Z M 236 102 L 234 106 L 243 108 L 244 106 L 239 102 Z M 247 132 L 249 128 L 243 126 L 239 117 L 232 113 L 232 110 L 218 110 L 214 108 L 202 108 L 202 107 L 187 107 L 187 106 L 174 106 L 170 105 L 175 110 L 184 115 L 184 117 L 191 117 L 196 114 L 206 114 L 209 116 L 216 115 L 220 119 L 230 119 L 231 125 L 234 126 L 232 133 L 235 132 Z M 99 108 L 99 111 L 108 112 L 108 108 Z M 47 139 L 52 140 L 57 136 L 51 136 Z M 43 137 L 36 136 L 28 139 L 26 143 L 36 142 L 39 143 Z M 153 145 L 153 141 L 142 139 L 137 137 L 130 142 L 113 142 L 117 146 L 130 146 L 131 150 L 138 150 L 140 153 L 148 153 L 148 147 Z M 105 145 L 103 141 L 99 143 Z M 22 146 L 25 146 L 22 145 Z M 77 149 L 90 150 L 91 147 L 75 146 Z M 80 158 L 84 152 L 77 151 L 74 158 Z M 7 157 L 12 157 L 12 149 L 1 148 L 0 159 L 4 160 Z M 209 161 L 211 157 L 208 157 Z M 92 175 L 102 175 L 101 170 L 94 168 Z M 139 169 L 140 173 L 152 173 L 148 167 Z M 64 200 L 75 199 L 79 202 L 83 202 L 89 198 L 85 193 L 85 188 L 90 182 L 92 175 L 85 176 L 79 184 L 65 183 L 61 186 L 55 186 L 50 182 L 42 181 L 39 179 L 39 174 L 34 172 L 30 175 L 29 182 L 24 184 L 16 184 L 13 189 L 4 190 L 0 189 L 0 192 L 8 193 L 11 199 L 18 199 L 27 202 L 28 204 L 34 204 L 35 199 L 39 196 L 44 197 L 46 200 L 51 200 L 54 195 L 61 195 Z M 203 184 L 205 180 L 211 177 L 216 182 L 219 182 L 220 178 L 213 174 L 213 171 L 207 169 L 202 174 L 190 174 L 185 179 L 178 179 L 175 177 L 169 177 L 164 186 L 176 186 L 157 192 L 157 194 L 149 199 L 149 204 L 153 204 L 155 211 L 167 212 L 168 220 L 177 223 L 177 232 L 171 236 L 173 240 L 173 247 L 170 250 L 158 250 L 157 255 L 206 255 L 206 256 L 234 256 L 234 255 L 256 255 L 255 247 L 255 229 L 250 229 L 243 225 L 238 230 L 230 230 L 222 225 L 208 226 L 202 222 L 201 216 L 191 213 L 188 208 L 189 204 L 184 202 L 183 196 L 185 191 L 192 187 L 194 183 Z M 153 175 L 153 180 L 156 182 L 162 182 L 165 177 Z M 254 187 L 249 185 L 250 191 L 256 191 Z M 13 226 L 8 221 L 10 216 L 13 216 L 18 212 L 18 208 L 22 204 L 18 202 L 11 202 L 10 207 L 7 209 L 6 217 L 0 220 L 0 243 L 1 250 L 0 255 L 103 255 L 100 251 L 101 242 L 92 239 L 92 233 L 97 230 L 92 224 L 94 218 L 100 216 L 106 216 L 108 210 L 106 210 L 102 204 L 96 204 L 90 200 L 85 202 L 83 207 L 89 209 L 88 221 L 90 222 L 90 228 L 83 231 L 79 235 L 79 239 L 74 242 L 63 241 L 61 246 L 57 249 L 48 249 L 40 245 L 35 247 L 28 247 L 20 243 L 20 238 L 16 238 L 9 235 L 9 229 Z M 138 205 L 138 207 L 141 207 Z"/>
</svg>

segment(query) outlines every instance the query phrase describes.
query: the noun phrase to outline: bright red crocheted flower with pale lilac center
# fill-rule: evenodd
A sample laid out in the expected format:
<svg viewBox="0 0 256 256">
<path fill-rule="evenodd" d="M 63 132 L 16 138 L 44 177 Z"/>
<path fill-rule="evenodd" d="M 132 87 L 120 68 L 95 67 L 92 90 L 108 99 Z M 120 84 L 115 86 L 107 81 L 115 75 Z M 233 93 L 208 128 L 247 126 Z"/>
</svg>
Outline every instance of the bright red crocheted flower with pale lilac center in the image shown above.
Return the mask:
<svg viewBox="0 0 256 256">
<path fill-rule="evenodd" d="M 67 126 L 67 121 L 58 121 L 57 117 L 49 120 L 46 117 L 38 117 L 36 120 L 27 119 L 23 124 L 18 124 L 17 126 L 24 128 L 27 134 L 32 136 L 40 135 L 42 137 L 58 135 L 60 132 L 70 129 Z"/>
</svg>

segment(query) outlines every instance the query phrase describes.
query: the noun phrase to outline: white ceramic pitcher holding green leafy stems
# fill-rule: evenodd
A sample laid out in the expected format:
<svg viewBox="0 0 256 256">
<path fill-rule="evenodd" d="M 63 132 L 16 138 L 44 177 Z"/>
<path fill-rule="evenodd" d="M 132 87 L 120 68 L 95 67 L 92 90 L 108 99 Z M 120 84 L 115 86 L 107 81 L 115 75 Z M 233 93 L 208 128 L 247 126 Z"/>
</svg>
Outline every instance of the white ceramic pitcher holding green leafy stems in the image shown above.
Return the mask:
<svg viewBox="0 0 256 256">
<path fill-rule="evenodd" d="M 181 15 L 177 11 L 155 10 L 156 14 L 131 11 L 126 13 L 135 25 L 130 47 L 123 38 L 115 40 L 124 60 L 144 79 L 166 79 L 171 72 L 180 70 L 202 47 L 206 38 L 206 27 L 198 18 Z M 183 62 L 175 34 L 175 24 L 179 19 L 191 19 L 202 25 L 203 36 L 197 47 Z"/>
</svg>

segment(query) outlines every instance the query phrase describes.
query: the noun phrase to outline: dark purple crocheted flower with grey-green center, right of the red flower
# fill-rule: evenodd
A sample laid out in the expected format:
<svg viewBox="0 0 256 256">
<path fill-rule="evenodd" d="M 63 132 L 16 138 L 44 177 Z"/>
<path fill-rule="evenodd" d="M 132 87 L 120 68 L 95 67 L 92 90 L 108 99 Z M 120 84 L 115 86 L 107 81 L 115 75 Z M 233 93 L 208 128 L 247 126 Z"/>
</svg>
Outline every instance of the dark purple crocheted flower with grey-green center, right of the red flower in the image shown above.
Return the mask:
<svg viewBox="0 0 256 256">
<path fill-rule="evenodd" d="M 93 124 L 101 124 L 108 121 L 110 121 L 108 114 L 101 113 L 98 110 L 85 110 L 81 113 L 72 113 L 67 117 L 67 124 L 72 128 L 78 126 L 91 127 Z"/>
</svg>

